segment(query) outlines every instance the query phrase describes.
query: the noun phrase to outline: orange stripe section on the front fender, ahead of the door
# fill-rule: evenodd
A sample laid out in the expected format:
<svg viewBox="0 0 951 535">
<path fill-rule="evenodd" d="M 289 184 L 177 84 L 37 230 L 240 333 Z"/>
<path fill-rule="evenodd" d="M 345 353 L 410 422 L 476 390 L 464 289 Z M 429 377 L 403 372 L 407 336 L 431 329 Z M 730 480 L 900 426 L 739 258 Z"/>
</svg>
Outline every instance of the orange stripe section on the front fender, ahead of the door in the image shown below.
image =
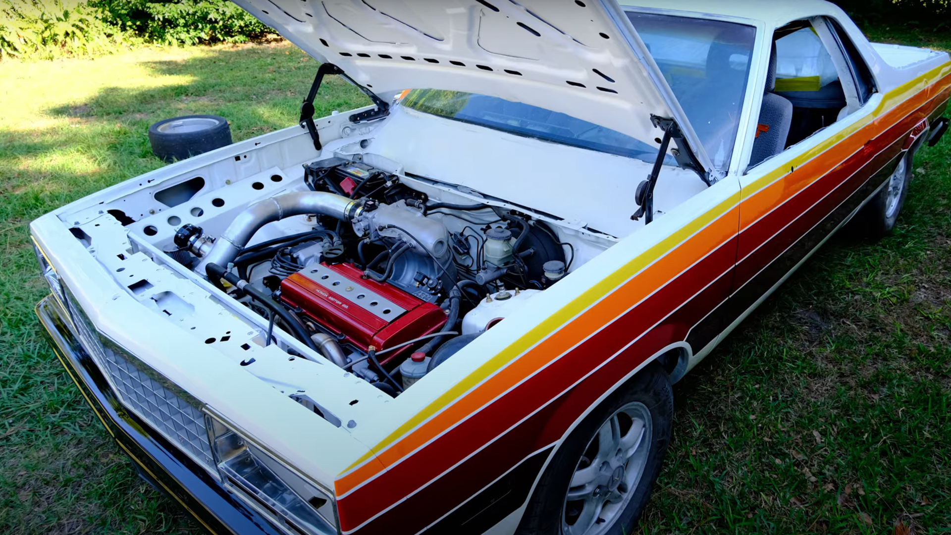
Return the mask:
<svg viewBox="0 0 951 535">
<path fill-rule="evenodd" d="M 564 353 L 566 348 L 575 346 L 592 332 L 604 327 L 631 306 L 649 296 L 654 289 L 668 283 L 672 276 L 689 268 L 698 259 L 735 236 L 738 218 L 739 208 L 731 208 L 724 216 L 690 238 L 687 243 L 673 248 L 653 266 L 645 269 L 624 286 L 617 288 L 573 322 L 555 331 L 547 340 L 515 360 L 511 366 L 499 371 L 458 403 L 447 407 L 394 446 L 379 452 L 378 460 L 384 466 L 393 465 L 443 430 L 453 426 L 481 406 L 492 402 L 539 367 L 552 362 Z M 379 466 L 365 465 L 346 474 L 335 483 L 338 495 L 350 491 L 356 485 L 376 475 L 378 471 Z"/>
</svg>

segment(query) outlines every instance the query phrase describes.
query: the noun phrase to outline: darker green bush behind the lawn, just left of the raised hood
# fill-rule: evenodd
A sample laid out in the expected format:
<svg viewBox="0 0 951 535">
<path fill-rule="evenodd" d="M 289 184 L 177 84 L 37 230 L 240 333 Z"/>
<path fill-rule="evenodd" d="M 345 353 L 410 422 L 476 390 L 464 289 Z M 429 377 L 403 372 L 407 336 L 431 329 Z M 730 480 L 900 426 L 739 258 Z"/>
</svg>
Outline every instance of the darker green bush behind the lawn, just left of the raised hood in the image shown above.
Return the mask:
<svg viewBox="0 0 951 535">
<path fill-rule="evenodd" d="M 227 0 L 92 0 L 89 5 L 102 10 L 107 23 L 158 44 L 243 43 L 271 32 Z"/>
</svg>

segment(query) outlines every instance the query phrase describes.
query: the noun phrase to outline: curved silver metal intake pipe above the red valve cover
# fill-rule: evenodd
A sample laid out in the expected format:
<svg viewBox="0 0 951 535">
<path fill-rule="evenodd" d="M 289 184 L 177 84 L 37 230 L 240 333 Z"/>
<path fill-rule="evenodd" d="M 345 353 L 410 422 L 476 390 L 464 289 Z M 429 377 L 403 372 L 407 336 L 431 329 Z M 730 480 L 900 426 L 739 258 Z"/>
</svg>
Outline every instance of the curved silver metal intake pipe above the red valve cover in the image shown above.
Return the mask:
<svg viewBox="0 0 951 535">
<path fill-rule="evenodd" d="M 215 240 L 214 247 L 202 258 L 195 268 L 204 275 L 208 264 L 217 264 L 227 268 L 241 254 L 255 232 L 264 225 L 279 221 L 285 217 L 302 214 L 319 214 L 350 221 L 362 211 L 358 201 L 336 193 L 324 191 L 300 191 L 284 193 L 259 201 L 235 217 L 231 225 Z"/>
</svg>

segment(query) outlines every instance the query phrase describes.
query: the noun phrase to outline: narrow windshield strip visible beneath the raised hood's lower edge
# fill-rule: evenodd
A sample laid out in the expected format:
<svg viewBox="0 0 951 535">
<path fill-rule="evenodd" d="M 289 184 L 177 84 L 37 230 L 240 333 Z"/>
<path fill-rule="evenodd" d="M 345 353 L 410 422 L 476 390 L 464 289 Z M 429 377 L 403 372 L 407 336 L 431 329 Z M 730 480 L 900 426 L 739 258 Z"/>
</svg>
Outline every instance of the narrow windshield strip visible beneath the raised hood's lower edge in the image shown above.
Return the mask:
<svg viewBox="0 0 951 535">
<path fill-rule="evenodd" d="M 608 152 L 653 163 L 657 148 L 571 115 L 502 98 L 441 89 L 413 89 L 401 101 L 407 108 L 439 117 L 534 137 L 581 149 Z M 665 164 L 676 165 L 668 156 Z"/>
</svg>

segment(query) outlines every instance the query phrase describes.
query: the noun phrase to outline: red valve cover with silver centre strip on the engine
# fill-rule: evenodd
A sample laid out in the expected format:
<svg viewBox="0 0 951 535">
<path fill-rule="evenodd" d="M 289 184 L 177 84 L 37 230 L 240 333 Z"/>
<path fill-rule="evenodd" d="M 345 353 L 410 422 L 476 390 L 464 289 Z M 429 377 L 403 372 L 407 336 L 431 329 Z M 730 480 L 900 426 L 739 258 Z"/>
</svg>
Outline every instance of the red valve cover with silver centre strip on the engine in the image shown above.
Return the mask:
<svg viewBox="0 0 951 535">
<path fill-rule="evenodd" d="M 396 346 L 446 323 L 441 308 L 398 287 L 364 279 L 363 272 L 349 264 L 320 264 L 294 273 L 281 282 L 281 300 L 364 351 Z M 381 362 L 410 348 L 394 351 Z"/>
</svg>

